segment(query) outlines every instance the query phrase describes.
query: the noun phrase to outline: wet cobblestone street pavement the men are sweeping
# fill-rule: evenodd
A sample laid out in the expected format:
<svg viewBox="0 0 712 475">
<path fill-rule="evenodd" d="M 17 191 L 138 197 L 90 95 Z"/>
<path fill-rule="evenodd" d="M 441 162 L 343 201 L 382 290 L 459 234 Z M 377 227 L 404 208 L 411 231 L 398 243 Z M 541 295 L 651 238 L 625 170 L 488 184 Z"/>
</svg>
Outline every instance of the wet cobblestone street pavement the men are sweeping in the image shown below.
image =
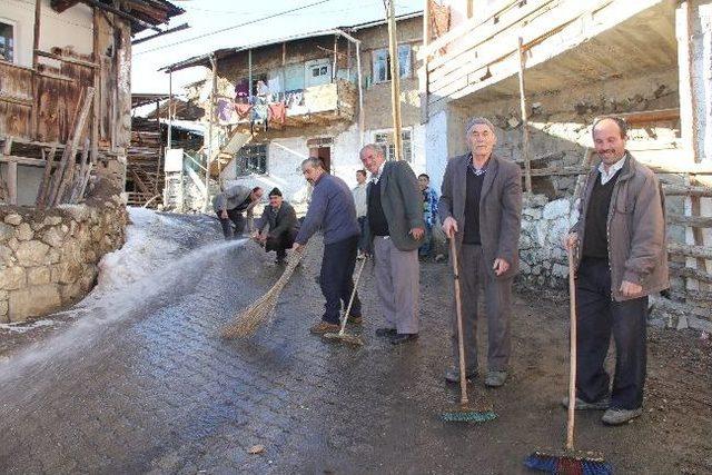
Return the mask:
<svg viewBox="0 0 712 475">
<path fill-rule="evenodd" d="M 211 246 L 206 239 L 184 249 Z M 308 334 L 322 309 L 319 243 L 285 289 L 271 321 L 246 340 L 219 329 L 279 275 L 250 245 L 176 258 L 164 290 L 118 295 L 0 366 L 2 473 L 523 473 L 535 448 L 557 447 L 565 414 L 565 301 L 520 295 L 514 363 L 504 388 L 471 389 L 500 417 L 453 425 L 449 277 L 422 267 L 422 337 L 393 347 L 364 273 L 366 346 Z M 178 271 L 176 271 L 178 270 Z M 481 352 L 482 353 L 482 352 Z M 711 473 L 710 346 L 689 333 L 651 330 L 649 412 L 621 428 L 578 418 L 578 446 L 619 473 Z M 250 455 L 256 444 L 263 454 Z"/>
</svg>

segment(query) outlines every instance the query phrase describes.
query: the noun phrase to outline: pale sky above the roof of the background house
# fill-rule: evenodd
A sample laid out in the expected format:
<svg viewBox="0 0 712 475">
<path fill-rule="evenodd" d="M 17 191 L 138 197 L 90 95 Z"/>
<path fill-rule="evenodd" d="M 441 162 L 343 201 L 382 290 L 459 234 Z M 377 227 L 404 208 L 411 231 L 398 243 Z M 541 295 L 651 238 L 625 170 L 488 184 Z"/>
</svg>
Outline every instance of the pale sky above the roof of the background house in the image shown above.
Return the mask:
<svg viewBox="0 0 712 475">
<path fill-rule="evenodd" d="M 263 2 L 228 0 L 171 0 L 186 13 L 175 17 L 169 28 L 188 23 L 189 29 L 136 44 L 132 51 L 132 92 L 168 92 L 168 75 L 157 70 L 194 56 L 219 48 L 239 47 L 291 34 L 307 33 L 340 26 L 385 18 L 383 0 L 265 0 Z M 234 28 L 199 39 L 195 37 L 229 28 L 275 13 L 320 2 L 284 16 Z M 422 10 L 423 0 L 396 0 L 396 14 Z M 165 28 L 165 27 L 161 27 Z M 142 32 L 136 38 L 150 36 Z M 180 44 L 172 44 L 184 41 Z M 205 77 L 201 67 L 174 73 L 174 92 Z"/>
</svg>

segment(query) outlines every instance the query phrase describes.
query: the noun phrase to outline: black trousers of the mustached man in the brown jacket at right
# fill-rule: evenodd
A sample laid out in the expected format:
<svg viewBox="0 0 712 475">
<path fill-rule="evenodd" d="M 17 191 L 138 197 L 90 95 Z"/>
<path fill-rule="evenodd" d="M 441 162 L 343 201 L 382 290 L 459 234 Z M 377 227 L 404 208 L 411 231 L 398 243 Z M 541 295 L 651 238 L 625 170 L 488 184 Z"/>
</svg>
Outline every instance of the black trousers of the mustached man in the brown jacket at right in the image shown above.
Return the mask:
<svg viewBox="0 0 712 475">
<path fill-rule="evenodd" d="M 576 390 L 593 403 L 611 396 L 611 407 L 643 405 L 646 365 L 647 297 L 614 301 L 605 259 L 584 258 L 576 281 Z M 611 335 L 615 342 L 613 388 L 603 367 Z"/>
</svg>

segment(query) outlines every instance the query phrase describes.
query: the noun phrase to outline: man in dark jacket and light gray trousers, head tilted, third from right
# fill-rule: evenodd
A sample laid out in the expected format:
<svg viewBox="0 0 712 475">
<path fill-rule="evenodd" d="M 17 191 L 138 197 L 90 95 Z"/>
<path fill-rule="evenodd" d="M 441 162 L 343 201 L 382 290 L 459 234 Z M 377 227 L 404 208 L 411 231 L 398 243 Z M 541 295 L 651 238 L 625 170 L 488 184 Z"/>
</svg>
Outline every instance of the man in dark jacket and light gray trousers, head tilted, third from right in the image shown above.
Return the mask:
<svg viewBox="0 0 712 475">
<path fill-rule="evenodd" d="M 366 192 L 366 254 L 373 250 L 376 287 L 386 326 L 376 335 L 394 345 L 418 337 L 419 265 L 423 244 L 423 199 L 415 174 L 405 161 L 386 161 L 383 149 L 369 144 L 360 160 L 372 174 Z"/>
</svg>

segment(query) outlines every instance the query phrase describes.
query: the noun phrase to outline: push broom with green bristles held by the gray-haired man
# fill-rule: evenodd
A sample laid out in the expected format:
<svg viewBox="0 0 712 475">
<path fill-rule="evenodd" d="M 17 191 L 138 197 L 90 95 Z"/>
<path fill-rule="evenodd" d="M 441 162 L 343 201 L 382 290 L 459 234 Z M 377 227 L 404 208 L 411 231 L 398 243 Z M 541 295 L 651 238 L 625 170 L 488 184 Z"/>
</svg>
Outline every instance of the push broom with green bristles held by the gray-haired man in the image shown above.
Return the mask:
<svg viewBox="0 0 712 475">
<path fill-rule="evenodd" d="M 457 349 L 459 353 L 459 406 L 456 409 L 441 414 L 446 423 L 486 423 L 497 415 L 492 408 L 476 408 L 469 405 L 467 398 L 467 376 L 465 374 L 465 337 L 463 335 L 463 306 L 459 296 L 459 268 L 457 265 L 457 249 L 455 237 L 449 239 L 449 255 L 453 263 L 453 280 L 455 281 L 455 313 L 457 315 Z"/>
</svg>

